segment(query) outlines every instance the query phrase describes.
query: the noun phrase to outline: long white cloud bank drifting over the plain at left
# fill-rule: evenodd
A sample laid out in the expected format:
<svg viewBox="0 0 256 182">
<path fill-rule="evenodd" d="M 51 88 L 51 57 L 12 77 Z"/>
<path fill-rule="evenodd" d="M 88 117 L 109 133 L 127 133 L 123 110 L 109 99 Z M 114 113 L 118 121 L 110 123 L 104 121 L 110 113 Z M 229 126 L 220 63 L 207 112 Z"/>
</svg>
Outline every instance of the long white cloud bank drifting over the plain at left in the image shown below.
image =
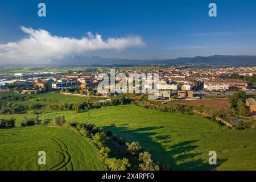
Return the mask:
<svg viewBox="0 0 256 182">
<path fill-rule="evenodd" d="M 102 39 L 101 35 L 91 32 L 81 39 L 51 35 L 46 30 L 34 30 L 21 27 L 28 36 L 18 42 L 0 44 L 0 63 L 41 63 L 64 56 L 81 54 L 89 51 L 123 51 L 129 47 L 145 46 L 139 36 L 126 38 Z"/>
</svg>

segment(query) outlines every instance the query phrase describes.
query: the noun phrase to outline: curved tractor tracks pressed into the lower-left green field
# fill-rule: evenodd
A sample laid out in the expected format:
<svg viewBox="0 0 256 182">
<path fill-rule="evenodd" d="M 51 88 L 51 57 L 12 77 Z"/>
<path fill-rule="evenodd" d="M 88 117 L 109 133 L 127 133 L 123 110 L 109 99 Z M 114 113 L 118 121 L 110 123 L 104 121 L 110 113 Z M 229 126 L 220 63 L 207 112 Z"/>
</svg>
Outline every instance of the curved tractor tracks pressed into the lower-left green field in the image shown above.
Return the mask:
<svg viewBox="0 0 256 182">
<path fill-rule="evenodd" d="M 7 135 L 19 135 L 19 134 L 27 135 L 27 137 L 30 137 L 30 134 L 33 135 L 33 133 L 29 133 L 29 134 L 28 133 L 10 133 L 10 134 L 0 134 L 0 137 L 4 137 L 4 136 L 7 136 Z M 42 135 L 42 134 L 36 134 L 36 135 Z M 61 140 L 61 139 L 59 139 L 59 138 L 57 138 L 55 136 L 52 136 L 52 135 L 47 135 L 47 136 L 42 135 L 42 136 L 43 137 L 47 137 L 47 138 L 53 140 L 54 142 L 56 142 L 57 145 L 60 147 L 60 150 L 56 149 L 55 151 L 57 151 L 61 155 L 63 155 L 63 160 L 61 160 L 61 162 L 59 164 L 57 164 L 56 166 L 53 166 L 51 168 L 46 169 L 46 171 L 49 171 L 49 170 L 57 171 L 57 170 L 60 170 L 60 169 L 63 169 L 63 168 L 65 168 L 65 170 L 68 171 L 68 164 L 70 164 L 72 171 L 75 170 L 74 167 L 73 167 L 73 163 L 72 163 L 72 156 L 69 153 L 69 149 L 68 149 L 67 144 L 65 144 L 63 142 L 63 140 Z M 42 150 L 42 148 L 44 148 L 44 147 L 28 148 L 28 149 L 24 149 L 24 150 L 3 151 L 3 152 L 0 152 L 0 154 L 5 154 L 5 153 L 7 153 L 7 154 L 15 154 L 15 153 L 20 152 L 20 151 L 22 151 L 22 152 L 24 152 L 24 151 L 31 152 L 31 151 Z M 44 149 L 54 150 L 54 148 L 52 148 L 52 147 L 46 147 Z"/>
</svg>

